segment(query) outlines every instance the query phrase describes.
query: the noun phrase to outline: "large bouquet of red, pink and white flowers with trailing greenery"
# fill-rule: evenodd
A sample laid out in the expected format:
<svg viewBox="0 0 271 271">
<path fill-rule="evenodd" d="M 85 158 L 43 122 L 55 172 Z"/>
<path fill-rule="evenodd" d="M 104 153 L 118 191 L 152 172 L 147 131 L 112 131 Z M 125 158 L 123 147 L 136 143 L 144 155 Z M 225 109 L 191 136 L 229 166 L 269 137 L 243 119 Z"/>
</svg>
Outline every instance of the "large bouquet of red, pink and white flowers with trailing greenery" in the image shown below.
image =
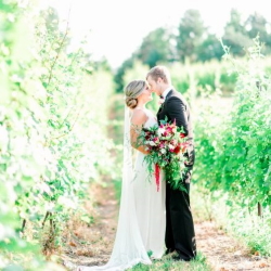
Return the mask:
<svg viewBox="0 0 271 271">
<path fill-rule="evenodd" d="M 159 190 L 160 169 L 165 170 L 166 179 L 172 189 L 186 191 L 181 182 L 186 172 L 184 154 L 189 146 L 183 129 L 176 122 L 162 120 L 159 126 L 143 127 L 138 140 L 139 144 L 144 145 L 150 153 L 144 159 L 150 176 L 155 175 L 157 191 Z"/>
</svg>

